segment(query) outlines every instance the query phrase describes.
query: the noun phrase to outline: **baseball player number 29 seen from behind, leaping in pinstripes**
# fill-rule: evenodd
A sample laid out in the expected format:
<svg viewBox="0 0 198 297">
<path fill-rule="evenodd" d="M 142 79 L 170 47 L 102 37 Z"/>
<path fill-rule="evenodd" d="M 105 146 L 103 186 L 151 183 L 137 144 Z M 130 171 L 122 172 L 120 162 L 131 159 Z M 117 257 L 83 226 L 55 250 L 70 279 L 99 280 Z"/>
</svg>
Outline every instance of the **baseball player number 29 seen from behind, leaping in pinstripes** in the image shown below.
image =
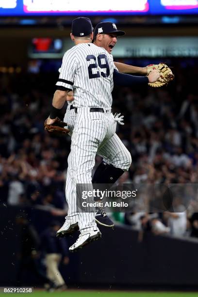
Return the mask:
<svg viewBox="0 0 198 297">
<path fill-rule="evenodd" d="M 71 138 L 68 167 L 71 167 L 72 189 L 76 196 L 77 183 L 92 184 L 91 171 L 96 153 L 115 134 L 115 119 L 111 114 L 113 80 L 120 85 L 148 83 L 156 81 L 159 74 L 156 70 L 153 70 L 148 78 L 132 78 L 130 75 L 120 74 L 113 63 L 113 57 L 105 49 L 91 43 L 93 32 L 88 18 L 80 17 L 73 20 L 71 38 L 76 46 L 64 55 L 47 124 L 55 121 L 57 113 L 67 100 L 68 91 L 73 89 L 73 107 L 77 116 Z M 78 222 L 81 231 L 76 243 L 69 248 L 74 251 L 99 239 L 101 233 L 93 212 L 78 213 L 75 205 L 73 208 L 71 206 L 68 201 L 65 227 L 67 231 L 74 230 Z"/>
</svg>

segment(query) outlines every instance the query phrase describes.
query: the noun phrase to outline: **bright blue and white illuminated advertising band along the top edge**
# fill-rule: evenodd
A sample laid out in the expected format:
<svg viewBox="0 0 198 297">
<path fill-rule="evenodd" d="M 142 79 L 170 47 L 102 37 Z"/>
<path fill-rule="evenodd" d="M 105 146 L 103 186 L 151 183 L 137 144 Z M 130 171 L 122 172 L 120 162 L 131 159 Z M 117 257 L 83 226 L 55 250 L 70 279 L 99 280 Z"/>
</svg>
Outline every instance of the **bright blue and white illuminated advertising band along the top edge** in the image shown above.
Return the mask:
<svg viewBox="0 0 198 297">
<path fill-rule="evenodd" d="M 198 14 L 198 0 L 0 0 L 0 16 Z"/>
</svg>

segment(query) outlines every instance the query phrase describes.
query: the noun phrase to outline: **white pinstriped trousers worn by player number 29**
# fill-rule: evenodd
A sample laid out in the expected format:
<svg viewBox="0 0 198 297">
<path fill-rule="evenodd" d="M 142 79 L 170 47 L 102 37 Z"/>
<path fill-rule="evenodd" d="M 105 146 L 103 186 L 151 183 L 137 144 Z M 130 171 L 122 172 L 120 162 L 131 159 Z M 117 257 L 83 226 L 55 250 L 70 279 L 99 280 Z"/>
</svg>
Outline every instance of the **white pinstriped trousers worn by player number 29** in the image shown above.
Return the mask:
<svg viewBox="0 0 198 297">
<path fill-rule="evenodd" d="M 115 121 L 111 113 L 90 113 L 89 108 L 79 108 L 71 138 L 72 183 L 90 184 L 95 156 L 101 143 L 115 134 Z M 76 191 L 76 187 L 75 191 Z M 75 193 L 76 196 L 76 193 Z M 95 213 L 79 213 L 80 230 L 90 231 L 95 227 Z M 95 227 L 96 228 L 96 227 Z"/>
</svg>

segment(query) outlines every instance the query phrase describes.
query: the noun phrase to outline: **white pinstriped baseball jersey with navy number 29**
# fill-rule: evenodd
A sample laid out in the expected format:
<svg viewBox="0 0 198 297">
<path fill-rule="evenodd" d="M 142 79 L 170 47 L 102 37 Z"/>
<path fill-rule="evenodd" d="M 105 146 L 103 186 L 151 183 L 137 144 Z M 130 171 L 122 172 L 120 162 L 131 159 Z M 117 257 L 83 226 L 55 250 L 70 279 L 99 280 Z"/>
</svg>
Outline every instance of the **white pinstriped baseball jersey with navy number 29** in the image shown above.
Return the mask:
<svg viewBox="0 0 198 297">
<path fill-rule="evenodd" d="M 75 88 L 74 107 L 112 105 L 113 56 L 92 43 L 82 43 L 66 51 L 56 85 Z"/>
</svg>

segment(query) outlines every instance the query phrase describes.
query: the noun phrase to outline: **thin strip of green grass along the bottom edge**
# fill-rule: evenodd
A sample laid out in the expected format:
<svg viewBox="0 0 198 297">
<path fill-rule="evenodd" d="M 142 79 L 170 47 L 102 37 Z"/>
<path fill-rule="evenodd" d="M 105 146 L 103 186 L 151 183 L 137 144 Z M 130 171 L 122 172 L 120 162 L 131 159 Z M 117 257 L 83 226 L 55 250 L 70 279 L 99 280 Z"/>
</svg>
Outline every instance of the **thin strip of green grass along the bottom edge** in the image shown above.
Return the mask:
<svg viewBox="0 0 198 297">
<path fill-rule="evenodd" d="M 68 290 L 64 292 L 45 292 L 34 291 L 32 294 L 26 293 L 0 293 L 0 295 L 29 295 L 32 297 L 198 297 L 198 292 L 125 292 L 125 291 L 86 291 L 86 290 Z"/>
</svg>

